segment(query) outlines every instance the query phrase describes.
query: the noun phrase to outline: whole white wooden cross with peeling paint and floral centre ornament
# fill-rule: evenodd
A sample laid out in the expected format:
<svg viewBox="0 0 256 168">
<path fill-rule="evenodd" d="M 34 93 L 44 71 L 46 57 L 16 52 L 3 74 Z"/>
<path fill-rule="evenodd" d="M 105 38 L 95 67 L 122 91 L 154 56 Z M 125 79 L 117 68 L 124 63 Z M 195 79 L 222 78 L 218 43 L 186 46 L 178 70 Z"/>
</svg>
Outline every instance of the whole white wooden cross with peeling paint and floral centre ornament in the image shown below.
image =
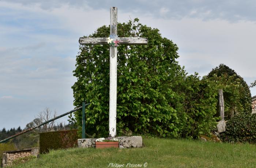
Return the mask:
<svg viewBox="0 0 256 168">
<path fill-rule="evenodd" d="M 115 35 L 117 35 L 117 7 L 111 7 L 110 8 L 110 36 L 113 37 Z M 79 43 L 84 45 L 109 44 L 108 43 L 109 40 L 110 38 L 105 38 L 105 37 L 80 38 Z M 118 38 L 118 40 L 119 40 L 118 44 L 147 44 L 146 38 Z M 117 44 L 117 40 L 116 40 L 116 44 Z M 114 46 L 114 47 L 113 46 L 114 45 L 109 47 L 109 52 L 110 52 L 109 137 L 116 136 L 117 46 Z"/>
</svg>

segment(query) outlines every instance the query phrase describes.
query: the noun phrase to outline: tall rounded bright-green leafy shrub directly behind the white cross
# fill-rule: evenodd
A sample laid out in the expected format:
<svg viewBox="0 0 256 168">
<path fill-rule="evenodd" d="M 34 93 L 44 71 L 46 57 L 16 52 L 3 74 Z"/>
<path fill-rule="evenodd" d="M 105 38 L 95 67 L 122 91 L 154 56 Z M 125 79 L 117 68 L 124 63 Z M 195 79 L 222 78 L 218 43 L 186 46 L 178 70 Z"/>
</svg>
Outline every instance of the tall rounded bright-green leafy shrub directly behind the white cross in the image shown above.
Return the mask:
<svg viewBox="0 0 256 168">
<path fill-rule="evenodd" d="M 135 19 L 135 22 L 138 20 Z M 136 23 L 135 23 L 136 24 Z M 177 111 L 169 105 L 172 87 L 181 67 L 176 44 L 162 38 L 159 30 L 141 24 L 118 23 L 118 36 L 148 38 L 148 45 L 118 46 L 117 133 L 153 133 L 177 137 Z M 98 28 L 90 37 L 109 36 L 109 27 Z M 74 105 L 91 102 L 86 108 L 86 132 L 108 136 L 109 125 L 109 46 L 81 46 L 76 58 Z M 78 125 L 81 112 L 75 113 Z"/>
</svg>

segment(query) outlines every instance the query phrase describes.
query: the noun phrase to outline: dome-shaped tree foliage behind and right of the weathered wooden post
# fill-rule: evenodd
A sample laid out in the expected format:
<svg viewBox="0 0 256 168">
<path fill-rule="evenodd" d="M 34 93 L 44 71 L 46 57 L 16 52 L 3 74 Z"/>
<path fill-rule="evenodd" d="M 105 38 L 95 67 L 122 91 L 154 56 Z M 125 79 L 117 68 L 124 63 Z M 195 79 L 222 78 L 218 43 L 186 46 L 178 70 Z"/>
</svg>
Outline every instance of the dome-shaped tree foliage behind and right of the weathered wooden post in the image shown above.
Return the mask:
<svg viewBox="0 0 256 168">
<path fill-rule="evenodd" d="M 219 67 L 205 77 L 215 82 L 217 89 L 223 89 L 225 116 L 230 118 L 231 113 L 252 112 L 251 92 L 244 79 L 228 66 L 220 64 Z"/>
</svg>

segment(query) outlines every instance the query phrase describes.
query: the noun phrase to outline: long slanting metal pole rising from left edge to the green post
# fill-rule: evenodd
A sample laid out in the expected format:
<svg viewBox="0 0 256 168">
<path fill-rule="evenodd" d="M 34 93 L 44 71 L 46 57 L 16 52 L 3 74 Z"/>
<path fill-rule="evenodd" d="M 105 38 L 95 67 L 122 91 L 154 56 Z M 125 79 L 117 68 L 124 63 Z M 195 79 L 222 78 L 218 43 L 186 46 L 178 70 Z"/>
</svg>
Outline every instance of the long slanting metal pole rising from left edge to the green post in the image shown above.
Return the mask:
<svg viewBox="0 0 256 168">
<path fill-rule="evenodd" d="M 88 106 L 89 104 L 90 104 L 90 103 L 87 103 L 85 106 Z M 30 129 L 24 130 L 24 131 L 22 131 L 22 132 L 19 132 L 19 133 L 13 135 L 13 136 L 10 136 L 10 137 L 8 137 L 8 138 L 5 138 L 4 140 L 1 140 L 1 141 L 0 141 L 0 144 L 1 144 L 2 142 L 8 141 L 8 140 L 10 140 L 10 139 L 12 139 L 12 138 L 14 138 L 14 137 L 16 137 L 16 136 L 19 136 L 19 135 L 21 135 L 21 134 L 24 134 L 24 133 L 26 133 L 26 132 L 29 132 L 29 131 L 31 131 L 31 130 L 33 130 L 33 129 L 38 128 L 39 126 L 45 125 L 45 124 L 47 124 L 47 123 L 49 123 L 49 122 L 52 122 L 52 121 L 54 121 L 54 120 L 56 120 L 56 119 L 58 119 L 58 118 L 60 118 L 60 117 L 66 116 L 66 115 L 68 115 L 68 114 L 70 114 L 70 113 L 73 113 L 73 112 L 75 112 L 75 111 L 77 111 L 77 110 L 80 110 L 80 109 L 82 109 L 82 107 L 79 107 L 79 108 L 76 108 L 76 109 L 74 109 L 74 110 L 71 110 L 71 111 L 69 111 L 69 112 L 67 112 L 67 113 L 64 113 L 64 114 L 60 115 L 60 116 L 54 117 L 54 118 L 52 118 L 51 120 L 45 121 L 44 123 L 42 123 L 42 124 L 40 124 L 40 125 L 34 126 L 34 127 L 30 128 Z"/>
</svg>

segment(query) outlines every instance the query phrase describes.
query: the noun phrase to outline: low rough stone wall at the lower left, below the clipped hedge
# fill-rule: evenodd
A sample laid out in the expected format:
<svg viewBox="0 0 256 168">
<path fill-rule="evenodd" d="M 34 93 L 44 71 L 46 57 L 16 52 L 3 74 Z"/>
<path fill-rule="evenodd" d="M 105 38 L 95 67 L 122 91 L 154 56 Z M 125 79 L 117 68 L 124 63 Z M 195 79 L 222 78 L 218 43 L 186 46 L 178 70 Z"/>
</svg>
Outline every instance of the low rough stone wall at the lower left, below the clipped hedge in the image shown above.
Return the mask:
<svg viewBox="0 0 256 168">
<path fill-rule="evenodd" d="M 6 151 L 3 153 L 2 166 L 7 167 L 12 164 L 12 161 L 20 157 L 37 156 L 39 154 L 39 148 L 21 149 L 17 151 Z"/>
</svg>

